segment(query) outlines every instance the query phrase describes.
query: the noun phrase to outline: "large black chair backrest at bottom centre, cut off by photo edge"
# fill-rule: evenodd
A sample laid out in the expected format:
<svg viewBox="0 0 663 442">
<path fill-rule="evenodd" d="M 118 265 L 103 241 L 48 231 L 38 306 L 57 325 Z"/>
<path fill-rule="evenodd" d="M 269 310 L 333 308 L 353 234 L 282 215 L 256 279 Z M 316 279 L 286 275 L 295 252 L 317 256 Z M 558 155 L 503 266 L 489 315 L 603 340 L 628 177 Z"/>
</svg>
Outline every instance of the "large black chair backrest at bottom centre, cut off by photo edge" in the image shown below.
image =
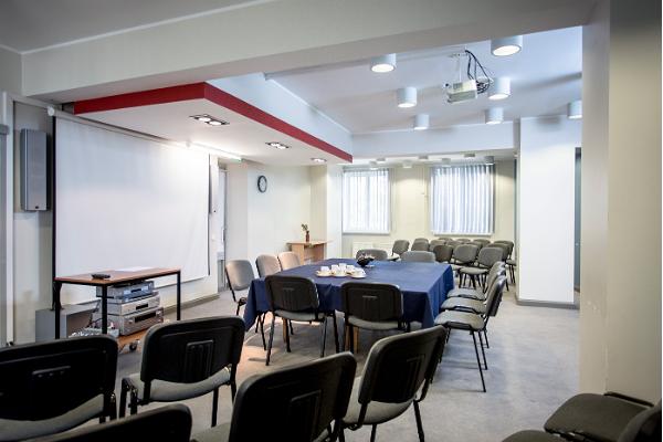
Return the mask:
<svg viewBox="0 0 663 442">
<path fill-rule="evenodd" d="M 235 397 L 228 440 L 309 442 L 337 422 L 336 440 L 356 368 L 346 351 L 250 377 Z"/>
</svg>

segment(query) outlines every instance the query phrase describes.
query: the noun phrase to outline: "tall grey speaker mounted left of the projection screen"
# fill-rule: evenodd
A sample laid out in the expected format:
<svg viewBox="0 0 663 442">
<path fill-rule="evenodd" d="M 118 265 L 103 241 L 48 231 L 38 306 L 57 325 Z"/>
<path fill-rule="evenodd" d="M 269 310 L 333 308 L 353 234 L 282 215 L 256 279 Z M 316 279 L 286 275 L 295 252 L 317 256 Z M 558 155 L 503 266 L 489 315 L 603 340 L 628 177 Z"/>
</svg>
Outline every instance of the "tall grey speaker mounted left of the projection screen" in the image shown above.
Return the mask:
<svg viewBox="0 0 663 442">
<path fill-rule="evenodd" d="M 21 129 L 21 209 L 49 210 L 46 133 Z"/>
</svg>

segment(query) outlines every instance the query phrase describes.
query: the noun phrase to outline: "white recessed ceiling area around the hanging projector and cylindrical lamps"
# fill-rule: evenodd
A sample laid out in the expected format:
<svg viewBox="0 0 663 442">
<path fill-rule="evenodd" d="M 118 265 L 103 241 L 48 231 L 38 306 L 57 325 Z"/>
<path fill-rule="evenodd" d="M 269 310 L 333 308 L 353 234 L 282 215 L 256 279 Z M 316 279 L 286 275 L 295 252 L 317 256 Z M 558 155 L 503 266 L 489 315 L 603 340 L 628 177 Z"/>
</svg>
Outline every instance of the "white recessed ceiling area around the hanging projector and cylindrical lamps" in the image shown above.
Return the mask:
<svg viewBox="0 0 663 442">
<path fill-rule="evenodd" d="M 505 120 L 560 115 L 568 102 L 581 97 L 581 32 L 568 28 L 524 35 L 523 51 L 505 57 L 491 54 L 490 41 L 467 44 L 494 76 L 512 80 L 512 96 L 497 102 L 482 94 L 472 102 L 446 103 L 441 85 L 457 77 L 449 54 L 462 46 L 399 54 L 397 69 L 387 74 L 376 74 L 368 61 L 359 61 L 266 76 L 352 134 L 411 129 L 418 113 L 430 114 L 432 128 L 482 124 L 490 106 L 504 107 Z M 396 90 L 403 86 L 419 88 L 415 107 L 397 107 Z"/>
</svg>

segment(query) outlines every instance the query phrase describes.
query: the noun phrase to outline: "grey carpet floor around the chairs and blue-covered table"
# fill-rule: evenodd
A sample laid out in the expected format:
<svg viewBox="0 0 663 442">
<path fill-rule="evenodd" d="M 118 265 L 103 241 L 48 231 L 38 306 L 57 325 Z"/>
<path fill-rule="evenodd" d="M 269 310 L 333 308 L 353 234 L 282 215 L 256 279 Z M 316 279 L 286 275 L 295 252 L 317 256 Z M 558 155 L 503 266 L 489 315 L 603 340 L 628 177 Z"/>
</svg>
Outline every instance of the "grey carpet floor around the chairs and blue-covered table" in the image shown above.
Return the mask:
<svg viewBox="0 0 663 442">
<path fill-rule="evenodd" d="M 505 292 L 498 315 L 488 327 L 491 348 L 486 349 L 488 370 L 485 371 L 487 392 L 481 391 L 481 379 L 472 338 L 454 332 L 445 348 L 435 381 L 421 404 L 427 440 L 429 441 L 501 441 L 508 434 L 527 428 L 540 429 L 547 417 L 578 389 L 578 311 L 526 307 L 516 305 L 514 293 Z M 217 299 L 183 309 L 183 318 L 232 315 L 235 305 L 229 292 Z M 172 315 L 171 315 L 172 316 Z M 329 332 L 332 324 L 329 323 Z M 274 334 L 272 364 L 265 367 L 265 351 L 260 334 L 246 333 L 238 383 L 246 377 L 291 364 L 314 359 L 319 352 L 319 328 L 295 324 L 292 352 L 285 351 L 277 324 Z M 333 351 L 333 333 L 328 333 L 327 351 Z M 371 343 L 387 336 L 361 333 L 357 356 L 358 372 L 364 367 Z M 118 360 L 117 394 L 122 377 L 139 371 L 140 348 L 127 349 Z M 119 396 L 118 396 L 119 399 Z M 230 420 L 230 389 L 220 394 L 219 423 Z M 211 394 L 185 402 L 193 414 L 193 433 L 209 428 Z M 150 404 L 141 409 L 150 409 Z M 140 411 L 140 410 L 139 410 Z M 270 406 L 265 404 L 265 413 Z M 260 422 L 260 417 L 256 417 Z M 346 431 L 347 441 L 368 441 L 369 428 Z M 378 441 L 417 441 L 412 410 L 378 427 Z"/>
</svg>

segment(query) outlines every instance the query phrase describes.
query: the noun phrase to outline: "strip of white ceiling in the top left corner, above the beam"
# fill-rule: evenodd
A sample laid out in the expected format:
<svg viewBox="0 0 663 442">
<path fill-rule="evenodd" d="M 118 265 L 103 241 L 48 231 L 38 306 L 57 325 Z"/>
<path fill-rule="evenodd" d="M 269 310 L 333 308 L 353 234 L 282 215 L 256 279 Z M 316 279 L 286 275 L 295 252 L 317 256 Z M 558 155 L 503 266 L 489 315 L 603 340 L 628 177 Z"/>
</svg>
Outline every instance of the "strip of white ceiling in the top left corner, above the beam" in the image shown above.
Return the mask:
<svg viewBox="0 0 663 442">
<path fill-rule="evenodd" d="M 0 44 L 18 52 L 32 51 L 243 3 L 256 1 L 2 0 Z"/>
</svg>

